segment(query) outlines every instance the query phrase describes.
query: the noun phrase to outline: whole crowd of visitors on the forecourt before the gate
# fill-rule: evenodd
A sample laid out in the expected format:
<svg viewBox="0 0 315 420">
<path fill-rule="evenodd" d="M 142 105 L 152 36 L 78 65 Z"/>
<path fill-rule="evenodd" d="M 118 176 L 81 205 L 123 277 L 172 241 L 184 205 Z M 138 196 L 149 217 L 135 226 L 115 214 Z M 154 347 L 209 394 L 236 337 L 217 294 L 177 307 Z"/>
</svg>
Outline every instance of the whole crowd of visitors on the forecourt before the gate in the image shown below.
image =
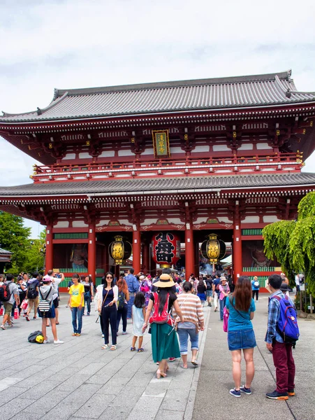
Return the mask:
<svg viewBox="0 0 315 420">
<path fill-rule="evenodd" d="M 34 319 L 42 318 L 42 333 L 47 344 L 47 327 L 51 326 L 54 344 L 63 344 L 57 337 L 59 324 L 59 283 L 64 274 L 49 270 L 45 276 L 37 272 L 33 276 L 21 273 L 15 281 L 12 274 L 4 277 L 0 274 L 0 301 L 4 314 L 0 325 L 2 330 L 13 326 L 16 312 L 30 320 L 34 310 Z M 268 279 L 270 288 L 268 309 L 268 330 L 265 336 L 267 349 L 272 352 L 276 367 L 277 388 L 266 396 L 272 399 L 286 400 L 295 394 L 295 365 L 292 355 L 293 342 L 279 332 L 277 323 L 280 316 L 280 301 L 286 299 L 294 307 L 288 293 L 286 278 L 274 274 Z M 143 335 L 148 330 L 151 335 L 152 358 L 159 365 L 156 377 L 166 377 L 168 362 L 182 358 L 181 367 L 198 366 L 200 330 L 205 328 L 203 307 L 214 306 L 219 309 L 220 321 L 228 317 L 228 349 L 232 356 L 233 380 L 235 387 L 230 395 L 239 398 L 242 393 L 251 394 L 251 383 L 254 379 L 254 347 L 256 339 L 251 320 L 256 310 L 254 297 L 258 300 L 258 279 L 249 280 L 240 276 L 233 283 L 231 276 L 199 276 L 191 274 L 187 279 L 171 274 L 170 269 L 163 269 L 161 275 L 152 278 L 139 273 L 135 276 L 133 268 L 125 275 L 115 279 L 112 272 L 107 272 L 101 284 L 95 288 L 91 276 L 73 274 L 68 282 L 68 304 L 71 310 L 73 336 L 80 337 L 82 332 L 82 316 L 91 312 L 94 300 L 104 339 L 102 349 L 117 349 L 117 335 L 122 321 L 122 335 L 125 335 L 127 320 L 133 324 L 133 337 L 130 351 L 141 353 Z M 1 309 L 0 309 L 1 310 Z M 3 310 L 3 309 L 2 309 Z M 1 312 L 0 312 L 1 313 Z M 111 332 L 111 334 L 110 334 Z M 111 345 L 110 345 L 111 337 Z M 189 341 L 191 358 L 188 360 Z M 138 343 L 138 344 L 137 344 Z M 138 346 L 138 349 L 136 347 Z M 244 356 L 246 364 L 246 381 L 241 385 L 241 360 Z"/>
</svg>

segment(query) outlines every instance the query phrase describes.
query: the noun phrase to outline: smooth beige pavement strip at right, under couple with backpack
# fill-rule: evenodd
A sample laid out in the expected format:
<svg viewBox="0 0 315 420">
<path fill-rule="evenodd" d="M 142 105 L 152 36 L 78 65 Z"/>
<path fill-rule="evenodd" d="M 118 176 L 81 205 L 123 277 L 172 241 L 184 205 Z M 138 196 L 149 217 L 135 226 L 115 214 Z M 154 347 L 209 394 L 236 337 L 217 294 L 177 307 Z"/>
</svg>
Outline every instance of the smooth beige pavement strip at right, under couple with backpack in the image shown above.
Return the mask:
<svg viewBox="0 0 315 420">
<path fill-rule="evenodd" d="M 212 312 L 207 329 L 202 369 L 198 380 L 193 420 L 314 420 L 315 419 L 315 321 L 299 318 L 300 339 L 293 350 L 295 358 L 295 396 L 287 401 L 269 400 L 265 393 L 275 389 L 272 354 L 265 346 L 268 319 L 268 295 L 256 302 L 254 330 L 257 347 L 254 350 L 255 377 L 251 395 L 235 398 L 229 395 L 234 388 L 232 362 L 226 332 L 222 330 L 219 314 Z M 242 383 L 245 365 L 242 360 Z"/>
</svg>

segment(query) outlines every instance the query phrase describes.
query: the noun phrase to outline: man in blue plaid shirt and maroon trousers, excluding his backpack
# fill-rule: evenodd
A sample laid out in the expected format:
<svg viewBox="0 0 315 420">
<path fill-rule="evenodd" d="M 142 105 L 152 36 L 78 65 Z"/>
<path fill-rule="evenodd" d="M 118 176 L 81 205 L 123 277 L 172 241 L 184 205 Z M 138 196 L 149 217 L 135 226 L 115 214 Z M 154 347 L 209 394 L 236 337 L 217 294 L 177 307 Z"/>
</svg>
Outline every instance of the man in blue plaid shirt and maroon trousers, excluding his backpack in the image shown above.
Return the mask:
<svg viewBox="0 0 315 420">
<path fill-rule="evenodd" d="M 268 286 L 272 294 L 269 298 L 268 330 L 265 342 L 267 349 L 272 352 L 274 367 L 276 368 L 277 388 L 275 391 L 267 393 L 266 397 L 272 400 L 288 400 L 289 396 L 295 395 L 295 363 L 292 355 L 292 344 L 285 343 L 279 333 L 277 323 L 280 318 L 280 302 L 277 298 L 272 298 L 276 295 L 281 299 L 285 298 L 280 290 L 281 283 L 282 279 L 279 274 L 272 274 L 268 279 Z M 291 299 L 289 300 L 293 305 Z"/>
</svg>

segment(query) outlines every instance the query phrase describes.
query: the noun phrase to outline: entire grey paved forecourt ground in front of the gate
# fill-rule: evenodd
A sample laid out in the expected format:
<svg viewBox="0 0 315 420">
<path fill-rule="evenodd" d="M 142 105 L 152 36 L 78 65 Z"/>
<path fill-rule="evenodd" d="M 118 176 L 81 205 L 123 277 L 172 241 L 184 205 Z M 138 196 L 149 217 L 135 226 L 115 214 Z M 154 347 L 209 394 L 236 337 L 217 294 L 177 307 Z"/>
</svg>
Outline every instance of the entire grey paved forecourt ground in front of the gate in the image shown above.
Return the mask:
<svg viewBox="0 0 315 420">
<path fill-rule="evenodd" d="M 143 353 L 130 352 L 129 324 L 129 334 L 118 337 L 117 351 L 104 351 L 96 313 L 83 318 L 81 337 L 72 337 L 65 304 L 63 296 L 58 335 L 64 344 L 27 342 L 29 332 L 41 329 L 39 319 L 20 318 L 14 328 L 0 331 L 0 420 L 315 419 L 315 321 L 300 320 L 297 395 L 288 402 L 265 398 L 266 391 L 274 390 L 272 358 L 263 342 L 267 297 L 258 302 L 254 320 L 258 342 L 254 392 L 239 399 L 228 394 L 233 381 L 226 333 L 219 314 L 210 308 L 205 308 L 206 329 L 200 334 L 200 368 L 183 370 L 175 361 L 167 378 L 156 379 L 149 335 Z"/>
</svg>

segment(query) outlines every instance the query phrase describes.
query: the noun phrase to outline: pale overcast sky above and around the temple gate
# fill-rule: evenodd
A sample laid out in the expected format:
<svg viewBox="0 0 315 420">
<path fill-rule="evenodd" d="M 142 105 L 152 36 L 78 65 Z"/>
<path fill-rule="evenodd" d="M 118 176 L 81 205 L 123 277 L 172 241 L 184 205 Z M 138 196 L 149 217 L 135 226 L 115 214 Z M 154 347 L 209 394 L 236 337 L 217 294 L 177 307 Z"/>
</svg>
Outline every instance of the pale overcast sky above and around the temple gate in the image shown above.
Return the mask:
<svg viewBox="0 0 315 420">
<path fill-rule="evenodd" d="M 314 92 L 314 15 L 314 0 L 0 0 L 0 109 L 44 108 L 54 87 L 287 69 Z M 0 153 L 2 186 L 31 181 L 33 159 L 1 137 Z"/>
</svg>

